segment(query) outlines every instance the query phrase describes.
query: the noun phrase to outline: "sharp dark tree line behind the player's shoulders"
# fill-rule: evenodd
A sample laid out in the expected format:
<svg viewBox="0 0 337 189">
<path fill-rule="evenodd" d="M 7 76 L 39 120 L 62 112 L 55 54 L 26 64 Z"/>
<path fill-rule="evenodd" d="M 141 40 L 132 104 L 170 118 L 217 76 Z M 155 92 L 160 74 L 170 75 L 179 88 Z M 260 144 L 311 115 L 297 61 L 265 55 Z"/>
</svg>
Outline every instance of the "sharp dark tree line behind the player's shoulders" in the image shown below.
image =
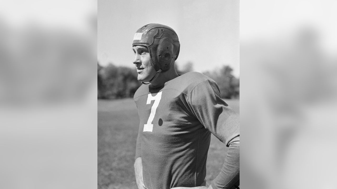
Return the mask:
<svg viewBox="0 0 337 189">
<path fill-rule="evenodd" d="M 191 62 L 185 64 L 181 69 L 176 66 L 178 74 L 185 74 L 193 71 Z M 219 86 L 221 97 L 224 99 L 239 98 L 240 81 L 232 74 L 230 66 L 223 66 L 221 69 L 203 72 L 212 78 Z M 100 66 L 97 63 L 97 98 L 98 99 L 122 99 L 132 98 L 141 82 L 137 80 L 135 68 L 115 66 L 108 64 Z"/>
</svg>

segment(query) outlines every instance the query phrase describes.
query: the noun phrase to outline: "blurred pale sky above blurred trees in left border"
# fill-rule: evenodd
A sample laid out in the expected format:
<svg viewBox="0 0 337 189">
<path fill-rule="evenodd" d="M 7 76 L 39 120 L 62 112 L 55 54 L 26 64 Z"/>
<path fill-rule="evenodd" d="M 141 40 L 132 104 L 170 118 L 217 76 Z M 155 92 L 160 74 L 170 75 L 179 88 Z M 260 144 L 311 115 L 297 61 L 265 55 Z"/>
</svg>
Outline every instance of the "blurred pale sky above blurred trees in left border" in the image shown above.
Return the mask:
<svg viewBox="0 0 337 189">
<path fill-rule="evenodd" d="M 88 30 L 88 20 L 96 15 L 96 8 L 95 0 L 13 0 L 0 6 L 0 21 L 13 28 L 36 24 L 84 32 Z"/>
</svg>

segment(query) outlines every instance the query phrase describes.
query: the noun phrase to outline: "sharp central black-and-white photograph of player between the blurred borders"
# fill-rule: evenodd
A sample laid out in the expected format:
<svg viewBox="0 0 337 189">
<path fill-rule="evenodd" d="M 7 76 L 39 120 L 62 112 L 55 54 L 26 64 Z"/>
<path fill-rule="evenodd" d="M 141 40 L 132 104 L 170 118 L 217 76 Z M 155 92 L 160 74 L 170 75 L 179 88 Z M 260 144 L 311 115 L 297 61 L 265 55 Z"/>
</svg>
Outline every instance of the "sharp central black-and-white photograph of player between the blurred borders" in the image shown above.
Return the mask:
<svg viewBox="0 0 337 189">
<path fill-rule="evenodd" d="M 239 188 L 239 1 L 98 1 L 98 187 Z"/>
</svg>

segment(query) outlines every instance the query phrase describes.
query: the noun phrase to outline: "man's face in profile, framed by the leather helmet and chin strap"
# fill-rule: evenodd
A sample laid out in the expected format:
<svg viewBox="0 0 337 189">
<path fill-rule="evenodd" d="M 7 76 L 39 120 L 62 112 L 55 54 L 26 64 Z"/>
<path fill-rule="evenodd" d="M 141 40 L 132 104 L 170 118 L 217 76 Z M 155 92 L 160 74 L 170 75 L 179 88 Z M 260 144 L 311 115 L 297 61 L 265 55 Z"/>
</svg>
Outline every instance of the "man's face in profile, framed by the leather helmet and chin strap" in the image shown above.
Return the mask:
<svg viewBox="0 0 337 189">
<path fill-rule="evenodd" d="M 150 81 L 156 75 L 156 70 L 151 64 L 148 48 L 144 46 L 134 46 L 132 50 L 135 55 L 133 64 L 137 67 L 137 79 L 142 82 Z"/>
</svg>

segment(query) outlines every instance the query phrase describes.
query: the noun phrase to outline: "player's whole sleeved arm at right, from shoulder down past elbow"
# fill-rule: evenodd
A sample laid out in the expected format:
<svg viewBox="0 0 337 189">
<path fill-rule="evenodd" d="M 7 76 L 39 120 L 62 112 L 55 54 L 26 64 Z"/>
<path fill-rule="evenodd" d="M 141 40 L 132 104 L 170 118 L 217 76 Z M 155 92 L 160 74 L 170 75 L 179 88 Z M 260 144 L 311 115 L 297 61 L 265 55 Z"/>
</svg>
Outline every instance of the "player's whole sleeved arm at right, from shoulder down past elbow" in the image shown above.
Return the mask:
<svg viewBox="0 0 337 189">
<path fill-rule="evenodd" d="M 198 83 L 187 98 L 197 119 L 229 147 L 225 162 L 212 187 L 231 188 L 240 177 L 239 115 L 221 99 L 219 88 L 212 80 Z"/>
</svg>

